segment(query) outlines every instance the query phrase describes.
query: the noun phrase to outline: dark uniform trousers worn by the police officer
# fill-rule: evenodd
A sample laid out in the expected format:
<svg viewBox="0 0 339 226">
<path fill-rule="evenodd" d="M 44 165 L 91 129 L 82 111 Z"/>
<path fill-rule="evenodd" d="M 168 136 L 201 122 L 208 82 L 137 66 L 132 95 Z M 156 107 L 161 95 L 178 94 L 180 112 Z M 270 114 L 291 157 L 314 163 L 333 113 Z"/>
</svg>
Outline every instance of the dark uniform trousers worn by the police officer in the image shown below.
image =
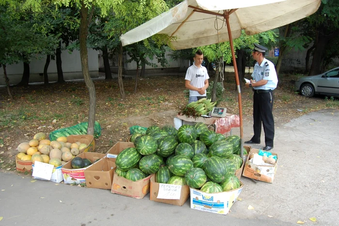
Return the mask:
<svg viewBox="0 0 339 226">
<path fill-rule="evenodd" d="M 273 118 L 273 93 L 270 90 L 254 90 L 253 97 L 253 131 L 252 141 L 260 143 L 262 126 L 265 132 L 266 146 L 273 147 L 274 118 Z"/>
</svg>

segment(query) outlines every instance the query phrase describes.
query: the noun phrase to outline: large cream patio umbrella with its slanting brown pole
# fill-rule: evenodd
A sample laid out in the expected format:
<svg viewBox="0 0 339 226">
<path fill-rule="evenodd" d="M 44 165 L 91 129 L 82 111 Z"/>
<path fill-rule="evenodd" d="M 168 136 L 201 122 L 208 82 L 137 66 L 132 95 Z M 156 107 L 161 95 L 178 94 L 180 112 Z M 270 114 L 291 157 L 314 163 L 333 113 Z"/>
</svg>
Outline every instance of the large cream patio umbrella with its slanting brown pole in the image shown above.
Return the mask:
<svg viewBox="0 0 339 226">
<path fill-rule="evenodd" d="M 321 0 L 185 0 L 165 13 L 126 32 L 123 46 L 154 34 L 176 37 L 175 49 L 194 48 L 230 41 L 235 81 L 238 88 L 241 157 L 243 157 L 243 120 L 241 90 L 232 39 L 241 31 L 247 35 L 284 26 L 315 13 Z M 218 18 L 218 19 L 217 19 Z M 227 29 L 220 29 L 226 21 Z M 218 29 L 216 29 L 218 28 Z"/>
</svg>

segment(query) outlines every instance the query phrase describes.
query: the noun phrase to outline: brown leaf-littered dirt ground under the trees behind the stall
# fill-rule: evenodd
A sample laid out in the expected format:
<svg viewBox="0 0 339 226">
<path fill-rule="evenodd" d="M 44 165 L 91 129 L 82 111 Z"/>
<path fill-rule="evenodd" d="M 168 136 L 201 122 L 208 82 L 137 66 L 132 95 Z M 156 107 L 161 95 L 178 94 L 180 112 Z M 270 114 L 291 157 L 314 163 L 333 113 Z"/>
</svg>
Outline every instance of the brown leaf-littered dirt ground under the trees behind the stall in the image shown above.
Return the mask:
<svg viewBox="0 0 339 226">
<path fill-rule="evenodd" d="M 301 97 L 293 83 L 300 75 L 280 75 L 275 90 L 274 116 L 276 127 L 305 113 L 326 109 L 339 109 L 339 101 L 330 97 Z M 247 75 L 247 78 L 250 76 Z M 210 81 L 213 81 L 212 77 Z M 187 104 L 184 95 L 185 74 L 146 76 L 138 82 L 123 80 L 126 99 L 120 98 L 116 79 L 105 81 L 104 76 L 95 80 L 96 121 L 102 135 L 95 140 L 96 151 L 106 153 L 118 141 L 129 137 L 134 125 L 173 125 L 173 118 Z M 225 74 L 224 93 L 218 106 L 228 113 L 238 114 L 238 99 L 233 73 Z M 14 100 L 8 98 L 5 87 L 0 88 L 0 168 L 15 170 L 15 148 L 28 142 L 35 133 L 50 132 L 88 120 L 89 96 L 84 81 L 32 84 L 12 87 Z M 242 106 L 244 125 L 252 124 L 253 92 L 243 87 Z"/>
</svg>

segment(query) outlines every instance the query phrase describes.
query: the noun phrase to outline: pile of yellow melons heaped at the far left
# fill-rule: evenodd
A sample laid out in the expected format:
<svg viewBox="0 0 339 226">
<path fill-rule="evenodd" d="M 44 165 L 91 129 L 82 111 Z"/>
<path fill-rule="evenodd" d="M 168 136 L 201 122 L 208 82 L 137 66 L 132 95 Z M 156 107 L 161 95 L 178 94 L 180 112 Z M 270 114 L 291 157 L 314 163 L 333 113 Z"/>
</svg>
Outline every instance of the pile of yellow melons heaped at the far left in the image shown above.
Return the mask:
<svg viewBox="0 0 339 226">
<path fill-rule="evenodd" d="M 59 137 L 56 141 L 46 139 L 46 135 L 39 132 L 34 135 L 30 142 L 24 142 L 17 146 L 19 151 L 17 158 L 22 161 L 41 161 L 54 165 L 55 167 L 71 161 L 79 154 L 79 150 L 85 148 L 86 144 L 80 142 L 68 143 L 66 137 Z"/>
</svg>

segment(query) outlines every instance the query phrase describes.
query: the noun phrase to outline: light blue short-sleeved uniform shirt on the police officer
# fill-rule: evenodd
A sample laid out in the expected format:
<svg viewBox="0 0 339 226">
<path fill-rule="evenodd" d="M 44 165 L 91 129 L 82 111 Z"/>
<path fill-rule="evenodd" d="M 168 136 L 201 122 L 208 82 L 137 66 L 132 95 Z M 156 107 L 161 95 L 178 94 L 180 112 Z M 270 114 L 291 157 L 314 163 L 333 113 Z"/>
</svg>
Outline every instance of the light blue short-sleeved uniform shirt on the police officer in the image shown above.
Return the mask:
<svg viewBox="0 0 339 226">
<path fill-rule="evenodd" d="M 277 88 L 278 77 L 276 68 L 274 64 L 266 58 L 263 59 L 262 64 L 259 65 L 258 62 L 254 65 L 254 70 L 252 73 L 252 78 L 255 81 L 268 80 L 265 85 L 253 87 L 253 89 L 264 89 L 264 90 L 274 90 Z"/>
</svg>

